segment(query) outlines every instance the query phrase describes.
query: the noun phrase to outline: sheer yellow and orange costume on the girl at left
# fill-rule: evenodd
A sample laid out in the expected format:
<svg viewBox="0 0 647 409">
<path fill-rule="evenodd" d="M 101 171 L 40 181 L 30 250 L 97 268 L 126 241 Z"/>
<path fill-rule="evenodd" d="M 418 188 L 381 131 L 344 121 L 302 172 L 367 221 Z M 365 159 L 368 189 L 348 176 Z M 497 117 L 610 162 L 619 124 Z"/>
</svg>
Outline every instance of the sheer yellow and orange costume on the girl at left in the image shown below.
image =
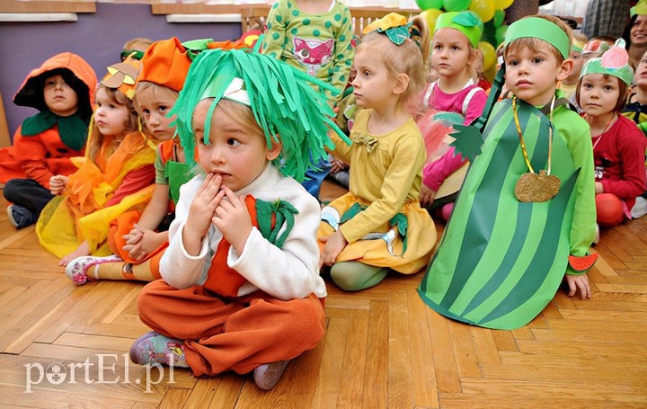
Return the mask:
<svg viewBox="0 0 647 409">
<path fill-rule="evenodd" d="M 111 254 L 106 242 L 110 221 L 128 210 L 143 210 L 151 198 L 154 184 L 104 207 L 126 174 L 155 163 L 155 145 L 146 143 L 139 132 L 111 149 L 114 143 L 113 137 L 104 138 L 94 161 L 87 156 L 73 158 L 78 170 L 69 176 L 63 195 L 49 201 L 40 214 L 36 224 L 40 245 L 58 257 L 74 252 L 84 240 L 93 255 Z"/>
</svg>

